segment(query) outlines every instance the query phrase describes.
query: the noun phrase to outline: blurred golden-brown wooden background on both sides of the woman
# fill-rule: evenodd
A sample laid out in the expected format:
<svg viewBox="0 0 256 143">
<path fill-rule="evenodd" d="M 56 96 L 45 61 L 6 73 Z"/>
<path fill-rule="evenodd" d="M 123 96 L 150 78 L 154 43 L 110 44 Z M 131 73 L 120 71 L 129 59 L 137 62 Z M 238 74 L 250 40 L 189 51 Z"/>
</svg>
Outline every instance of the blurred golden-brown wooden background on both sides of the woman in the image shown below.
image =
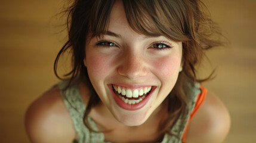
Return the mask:
<svg viewBox="0 0 256 143">
<path fill-rule="evenodd" d="M 217 77 L 205 86 L 226 104 L 232 126 L 225 143 L 256 141 L 256 1 L 205 0 L 212 18 L 230 39 L 208 52 Z M 0 1 L 0 139 L 29 142 L 24 113 L 50 88 L 55 55 L 66 38 L 60 15 L 64 1 Z M 209 70 L 203 70 L 204 74 Z"/>
</svg>

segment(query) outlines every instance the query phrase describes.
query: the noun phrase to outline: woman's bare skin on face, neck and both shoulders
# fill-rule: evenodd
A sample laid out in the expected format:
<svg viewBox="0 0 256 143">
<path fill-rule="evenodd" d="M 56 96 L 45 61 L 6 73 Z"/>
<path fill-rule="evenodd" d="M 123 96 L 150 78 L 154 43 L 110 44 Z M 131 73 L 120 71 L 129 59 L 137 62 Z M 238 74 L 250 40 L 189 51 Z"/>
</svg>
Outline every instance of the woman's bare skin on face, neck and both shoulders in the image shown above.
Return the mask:
<svg viewBox="0 0 256 143">
<path fill-rule="evenodd" d="M 166 113 L 162 102 L 179 74 L 181 42 L 173 42 L 163 36 L 149 38 L 135 33 L 128 26 L 121 1 L 117 1 L 113 7 L 108 30 L 115 36 L 91 38 L 86 43 L 84 64 L 101 99 L 89 116 L 98 129 L 111 130 L 104 133 L 106 141 L 161 141 L 163 134 L 158 132 L 159 117 Z M 98 44 L 104 41 L 115 45 Z M 172 48 L 153 48 L 152 45 L 159 42 Z M 155 86 L 156 89 L 144 107 L 130 111 L 119 107 L 113 100 L 108 86 L 111 84 L 131 89 L 134 86 Z M 90 89 L 80 83 L 79 90 L 86 105 Z M 208 92 L 205 102 L 189 123 L 186 142 L 223 142 L 229 126 L 226 108 L 214 94 Z M 76 138 L 72 119 L 57 87 L 45 92 L 30 105 L 26 113 L 26 129 L 32 142 L 72 142 Z"/>
</svg>

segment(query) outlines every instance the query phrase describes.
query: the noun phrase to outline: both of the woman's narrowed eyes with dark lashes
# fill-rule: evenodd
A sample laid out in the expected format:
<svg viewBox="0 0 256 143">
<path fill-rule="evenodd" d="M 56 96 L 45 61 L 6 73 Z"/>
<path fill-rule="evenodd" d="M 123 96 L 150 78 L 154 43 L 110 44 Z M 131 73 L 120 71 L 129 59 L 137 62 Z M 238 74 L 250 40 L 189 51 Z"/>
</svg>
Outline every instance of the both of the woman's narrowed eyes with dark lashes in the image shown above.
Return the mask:
<svg viewBox="0 0 256 143">
<path fill-rule="evenodd" d="M 100 42 L 97 42 L 96 45 L 106 46 L 106 47 L 116 46 L 116 44 L 111 41 L 100 41 Z M 154 46 L 154 45 L 157 45 L 157 46 Z M 155 43 L 152 43 L 150 48 L 156 48 L 157 50 L 164 50 L 164 49 L 170 49 L 172 48 L 172 46 L 166 44 L 165 42 L 155 42 Z"/>
</svg>

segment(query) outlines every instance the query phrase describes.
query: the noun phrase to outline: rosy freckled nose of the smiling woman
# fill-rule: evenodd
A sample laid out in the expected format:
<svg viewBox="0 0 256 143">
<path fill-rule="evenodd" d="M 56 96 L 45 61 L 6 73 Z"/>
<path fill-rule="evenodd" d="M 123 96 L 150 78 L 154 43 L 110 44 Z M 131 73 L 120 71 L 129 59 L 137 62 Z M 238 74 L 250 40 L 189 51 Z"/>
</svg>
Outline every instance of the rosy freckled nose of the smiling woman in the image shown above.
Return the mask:
<svg viewBox="0 0 256 143">
<path fill-rule="evenodd" d="M 128 79 L 137 79 L 146 76 L 147 64 L 139 54 L 126 53 L 120 59 L 121 64 L 118 67 L 118 73 Z"/>
</svg>

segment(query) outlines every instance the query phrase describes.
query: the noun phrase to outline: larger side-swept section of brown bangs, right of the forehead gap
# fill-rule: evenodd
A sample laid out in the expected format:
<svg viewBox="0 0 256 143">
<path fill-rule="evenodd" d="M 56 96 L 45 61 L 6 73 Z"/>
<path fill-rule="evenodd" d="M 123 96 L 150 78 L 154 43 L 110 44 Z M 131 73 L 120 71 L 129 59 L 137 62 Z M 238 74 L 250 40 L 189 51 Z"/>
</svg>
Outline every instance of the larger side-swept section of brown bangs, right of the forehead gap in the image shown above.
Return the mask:
<svg viewBox="0 0 256 143">
<path fill-rule="evenodd" d="M 172 4 L 173 3 L 173 4 Z M 187 41 L 180 5 L 173 1 L 124 0 L 129 26 L 147 36 L 165 36 L 173 41 Z"/>
</svg>

